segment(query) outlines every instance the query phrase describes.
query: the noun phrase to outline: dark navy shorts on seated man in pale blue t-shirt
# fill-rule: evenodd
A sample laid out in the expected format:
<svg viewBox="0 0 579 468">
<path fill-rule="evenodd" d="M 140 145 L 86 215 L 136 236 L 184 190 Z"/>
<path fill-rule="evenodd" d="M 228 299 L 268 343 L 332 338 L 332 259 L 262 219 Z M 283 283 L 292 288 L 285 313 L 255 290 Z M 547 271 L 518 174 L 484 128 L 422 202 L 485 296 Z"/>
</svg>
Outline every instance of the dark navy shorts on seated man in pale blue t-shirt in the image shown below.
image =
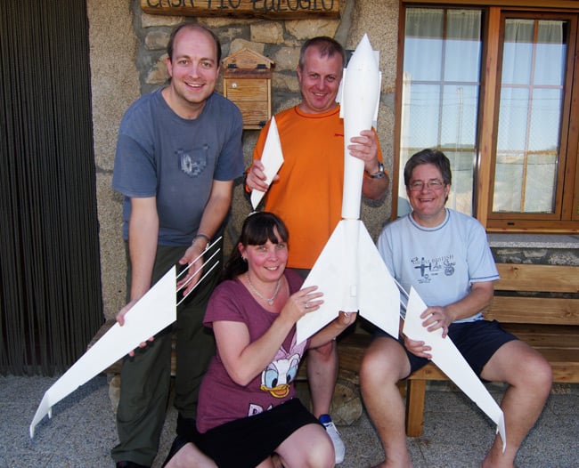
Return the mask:
<svg viewBox="0 0 579 468">
<path fill-rule="evenodd" d="M 381 330 L 375 332 L 374 335 L 387 336 L 394 340 L 392 336 Z M 481 372 L 483 372 L 483 367 L 504 343 L 518 340 L 517 336 L 504 331 L 496 320 L 453 323 L 448 328 L 448 336 L 453 340 L 454 345 L 461 351 L 462 356 L 479 378 Z M 404 338 L 402 336 L 398 338 L 398 343 L 401 343 L 404 347 Z M 406 356 L 408 356 L 410 361 L 411 374 L 426 366 L 429 362 L 428 359 L 419 358 L 406 350 L 406 348 L 404 348 L 404 351 L 406 351 Z"/>
</svg>

